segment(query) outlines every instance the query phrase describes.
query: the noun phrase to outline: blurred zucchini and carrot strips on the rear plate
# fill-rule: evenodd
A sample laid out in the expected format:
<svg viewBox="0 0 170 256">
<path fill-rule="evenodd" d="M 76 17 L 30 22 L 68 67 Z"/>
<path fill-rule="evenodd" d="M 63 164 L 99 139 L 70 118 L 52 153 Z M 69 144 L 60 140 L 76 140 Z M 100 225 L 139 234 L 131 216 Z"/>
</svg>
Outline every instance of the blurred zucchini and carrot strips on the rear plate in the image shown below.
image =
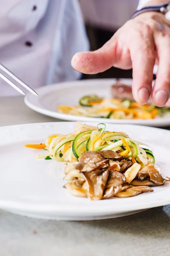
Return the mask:
<svg viewBox="0 0 170 256">
<path fill-rule="evenodd" d="M 77 106 L 60 105 L 57 110 L 65 114 L 110 119 L 154 119 L 170 113 L 168 108 L 143 106 L 128 99 L 99 98 L 96 95 L 82 97 Z"/>
</svg>

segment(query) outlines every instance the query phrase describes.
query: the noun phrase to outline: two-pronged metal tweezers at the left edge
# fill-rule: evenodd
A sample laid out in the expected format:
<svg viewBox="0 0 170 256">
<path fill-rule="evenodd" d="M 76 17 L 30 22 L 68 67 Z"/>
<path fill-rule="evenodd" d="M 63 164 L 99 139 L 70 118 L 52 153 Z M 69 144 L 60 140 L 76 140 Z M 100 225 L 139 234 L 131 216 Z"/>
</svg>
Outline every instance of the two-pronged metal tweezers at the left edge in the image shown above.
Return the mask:
<svg viewBox="0 0 170 256">
<path fill-rule="evenodd" d="M 19 83 L 24 88 L 26 88 L 29 92 L 38 96 L 38 94 L 28 84 L 24 83 L 21 79 L 19 79 L 17 76 L 15 76 L 14 73 L 12 73 L 10 70 L 8 70 L 7 67 L 3 66 L 3 64 L 0 64 L 0 69 L 3 70 L 12 79 L 14 79 L 17 83 Z M 26 93 L 17 84 L 14 84 L 13 81 L 8 79 L 8 77 L 6 75 L 4 75 L 2 72 L 0 72 L 0 78 L 2 78 L 4 81 L 6 81 L 9 85 L 11 85 L 19 93 L 26 95 Z"/>
</svg>

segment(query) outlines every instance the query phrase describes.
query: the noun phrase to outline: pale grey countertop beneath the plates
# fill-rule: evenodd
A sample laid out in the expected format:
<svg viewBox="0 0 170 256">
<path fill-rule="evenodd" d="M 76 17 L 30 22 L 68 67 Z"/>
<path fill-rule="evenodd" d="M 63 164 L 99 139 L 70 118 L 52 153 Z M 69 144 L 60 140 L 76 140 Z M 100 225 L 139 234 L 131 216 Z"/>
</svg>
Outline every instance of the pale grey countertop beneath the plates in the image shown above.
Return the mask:
<svg viewBox="0 0 170 256">
<path fill-rule="evenodd" d="M 60 121 L 0 98 L 0 126 Z M 45 221 L 0 210 L 0 256 L 170 256 L 170 206 L 102 221 Z"/>
</svg>

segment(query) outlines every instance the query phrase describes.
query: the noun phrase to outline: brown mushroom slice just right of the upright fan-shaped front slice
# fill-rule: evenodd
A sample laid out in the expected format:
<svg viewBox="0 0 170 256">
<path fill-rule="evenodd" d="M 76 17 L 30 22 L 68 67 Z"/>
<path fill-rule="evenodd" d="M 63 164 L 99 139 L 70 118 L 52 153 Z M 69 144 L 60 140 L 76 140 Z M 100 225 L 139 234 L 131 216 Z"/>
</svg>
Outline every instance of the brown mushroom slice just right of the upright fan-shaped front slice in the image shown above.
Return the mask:
<svg viewBox="0 0 170 256">
<path fill-rule="evenodd" d="M 123 183 L 125 183 L 125 175 L 120 172 L 111 170 L 103 198 L 113 197 L 117 192 L 121 191 Z"/>
</svg>

